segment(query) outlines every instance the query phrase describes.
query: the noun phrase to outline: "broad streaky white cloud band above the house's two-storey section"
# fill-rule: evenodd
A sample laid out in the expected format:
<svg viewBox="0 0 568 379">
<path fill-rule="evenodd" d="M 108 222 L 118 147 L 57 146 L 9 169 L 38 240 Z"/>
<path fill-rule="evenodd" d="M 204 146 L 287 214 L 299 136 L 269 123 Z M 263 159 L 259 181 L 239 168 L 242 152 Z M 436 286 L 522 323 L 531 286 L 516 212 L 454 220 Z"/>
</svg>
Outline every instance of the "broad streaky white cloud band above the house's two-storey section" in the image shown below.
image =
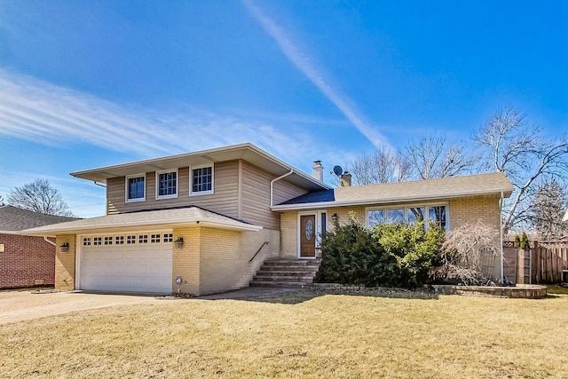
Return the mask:
<svg viewBox="0 0 568 379">
<path fill-rule="evenodd" d="M 55 146 L 61 138 L 140 157 L 253 142 L 272 152 L 309 154 L 312 141 L 268 122 L 184 105 L 171 114 L 123 107 L 80 91 L 0 69 L 0 135 Z"/>
</svg>

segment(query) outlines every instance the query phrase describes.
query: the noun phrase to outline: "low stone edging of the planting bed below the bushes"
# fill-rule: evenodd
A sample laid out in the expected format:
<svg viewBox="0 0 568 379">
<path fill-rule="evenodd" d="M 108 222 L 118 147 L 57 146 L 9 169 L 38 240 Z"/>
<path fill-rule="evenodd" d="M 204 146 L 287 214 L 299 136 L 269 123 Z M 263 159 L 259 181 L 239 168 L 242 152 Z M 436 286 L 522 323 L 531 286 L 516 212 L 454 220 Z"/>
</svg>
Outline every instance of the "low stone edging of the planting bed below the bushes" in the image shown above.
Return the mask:
<svg viewBox="0 0 568 379">
<path fill-rule="evenodd" d="M 462 296 L 496 296 L 526 299 L 540 299 L 547 296 L 546 286 L 536 284 L 519 284 L 516 287 L 485 287 L 485 286 L 454 286 L 454 285 L 425 285 L 422 288 L 367 288 L 362 285 L 343 285 L 338 283 L 312 283 L 307 288 L 314 291 L 330 293 L 379 293 L 383 295 L 416 294 L 432 295 L 462 295 Z"/>
</svg>

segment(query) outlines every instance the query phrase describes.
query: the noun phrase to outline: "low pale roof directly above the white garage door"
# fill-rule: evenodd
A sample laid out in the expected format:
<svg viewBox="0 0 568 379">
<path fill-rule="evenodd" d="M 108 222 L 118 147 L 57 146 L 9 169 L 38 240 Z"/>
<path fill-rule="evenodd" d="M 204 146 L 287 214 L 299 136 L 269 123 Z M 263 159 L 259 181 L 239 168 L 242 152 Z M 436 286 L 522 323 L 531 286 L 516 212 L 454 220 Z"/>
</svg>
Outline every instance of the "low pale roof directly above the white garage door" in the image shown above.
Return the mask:
<svg viewBox="0 0 568 379">
<path fill-rule="evenodd" d="M 146 210 L 120 213 L 101 217 L 85 218 L 58 225 L 40 226 L 28 229 L 22 234 L 55 236 L 56 234 L 97 233 L 117 228 L 134 230 L 145 226 L 185 226 L 201 225 L 241 231 L 258 231 L 262 226 L 245 223 L 231 217 L 219 215 L 209 210 L 190 206 L 175 209 Z"/>
</svg>

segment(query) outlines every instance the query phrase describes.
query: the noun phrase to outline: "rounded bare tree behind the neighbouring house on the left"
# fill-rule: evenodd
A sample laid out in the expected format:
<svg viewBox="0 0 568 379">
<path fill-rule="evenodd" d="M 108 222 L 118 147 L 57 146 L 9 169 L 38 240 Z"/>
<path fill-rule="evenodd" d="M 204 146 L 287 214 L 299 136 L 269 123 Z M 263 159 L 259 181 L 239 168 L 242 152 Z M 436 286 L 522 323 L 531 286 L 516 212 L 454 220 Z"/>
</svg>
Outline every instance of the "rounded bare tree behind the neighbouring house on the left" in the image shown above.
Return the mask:
<svg viewBox="0 0 568 379">
<path fill-rule="evenodd" d="M 47 179 L 36 179 L 32 183 L 14 187 L 8 193 L 8 203 L 44 215 L 73 216 L 61 193 Z"/>
</svg>

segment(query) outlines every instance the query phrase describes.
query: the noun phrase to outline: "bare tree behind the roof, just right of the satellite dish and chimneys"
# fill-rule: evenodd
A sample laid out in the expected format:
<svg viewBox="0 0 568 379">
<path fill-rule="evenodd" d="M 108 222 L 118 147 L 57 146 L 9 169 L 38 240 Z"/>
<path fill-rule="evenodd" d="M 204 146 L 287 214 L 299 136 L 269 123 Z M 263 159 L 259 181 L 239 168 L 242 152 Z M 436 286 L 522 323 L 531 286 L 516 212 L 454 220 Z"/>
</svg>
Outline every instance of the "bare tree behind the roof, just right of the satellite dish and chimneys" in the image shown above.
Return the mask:
<svg viewBox="0 0 568 379">
<path fill-rule="evenodd" d="M 411 179 L 410 163 L 396 151 L 384 147 L 375 154 L 362 154 L 348 166 L 355 185 L 402 182 Z"/>
</svg>

